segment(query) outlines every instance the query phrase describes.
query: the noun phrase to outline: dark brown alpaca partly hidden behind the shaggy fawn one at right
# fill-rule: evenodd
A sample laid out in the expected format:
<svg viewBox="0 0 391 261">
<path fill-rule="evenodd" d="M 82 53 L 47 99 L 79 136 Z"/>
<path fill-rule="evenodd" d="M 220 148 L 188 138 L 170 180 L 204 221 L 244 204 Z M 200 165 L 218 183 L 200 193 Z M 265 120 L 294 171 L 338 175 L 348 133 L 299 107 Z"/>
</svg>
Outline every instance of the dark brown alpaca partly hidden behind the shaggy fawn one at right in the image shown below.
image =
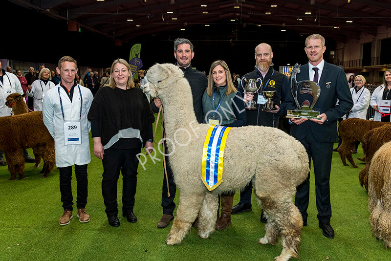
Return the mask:
<svg viewBox="0 0 391 261">
<path fill-rule="evenodd" d="M 390 133 L 391 125 L 385 124 L 381 127 L 368 131 L 364 136 L 363 151 L 366 163 L 364 168 L 362 168 L 358 174 L 358 179 L 360 180 L 360 185 L 365 186 L 366 190 L 368 190 L 368 174 L 372 157 L 381 146 L 391 141 Z"/>
</svg>

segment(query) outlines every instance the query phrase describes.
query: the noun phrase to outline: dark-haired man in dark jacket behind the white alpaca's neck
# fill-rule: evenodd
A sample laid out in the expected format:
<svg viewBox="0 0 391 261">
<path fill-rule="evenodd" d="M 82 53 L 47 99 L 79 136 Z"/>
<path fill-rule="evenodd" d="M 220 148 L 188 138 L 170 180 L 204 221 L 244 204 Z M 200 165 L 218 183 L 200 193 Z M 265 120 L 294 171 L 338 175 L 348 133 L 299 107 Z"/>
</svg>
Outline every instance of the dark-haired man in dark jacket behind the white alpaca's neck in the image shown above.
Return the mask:
<svg viewBox="0 0 391 261">
<path fill-rule="evenodd" d="M 192 89 L 195 117 L 198 123 L 203 123 L 204 113 L 202 110 L 202 96 L 208 85 L 208 80 L 206 79 L 205 74 L 192 68 L 191 61 L 194 57 L 193 44 L 184 38 L 176 39 L 174 42 L 174 56 L 176 58 L 175 65 L 183 70 L 184 77 L 187 79 Z M 152 102 L 152 110 L 157 112 L 161 105 L 162 103 L 160 99 L 155 98 Z M 169 154 L 166 143 L 164 143 L 164 146 L 166 151 L 165 153 Z M 176 192 L 176 185 L 174 183 L 173 171 L 171 170 L 170 164 L 168 163 L 168 156 L 165 157 L 167 163 L 169 189 L 167 190 L 167 180 L 164 176 L 162 192 L 163 216 L 157 223 L 158 228 L 164 228 L 170 224 L 170 221 L 174 218 L 173 212 L 175 209 L 174 197 Z M 170 197 L 168 196 L 168 192 L 170 192 Z"/>
</svg>

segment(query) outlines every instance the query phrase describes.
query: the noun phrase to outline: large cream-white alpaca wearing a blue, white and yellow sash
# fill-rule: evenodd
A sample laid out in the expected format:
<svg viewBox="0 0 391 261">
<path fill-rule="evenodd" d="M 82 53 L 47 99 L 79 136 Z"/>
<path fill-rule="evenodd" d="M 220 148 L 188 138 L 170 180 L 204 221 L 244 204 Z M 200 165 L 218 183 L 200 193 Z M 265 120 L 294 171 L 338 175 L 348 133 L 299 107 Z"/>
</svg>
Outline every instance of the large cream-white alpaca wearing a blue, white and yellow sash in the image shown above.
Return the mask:
<svg viewBox="0 0 391 261">
<path fill-rule="evenodd" d="M 198 124 L 195 119 L 189 83 L 172 64 L 153 65 L 148 76 L 151 83 L 145 92 L 155 93 L 164 105 L 170 165 L 180 189 L 179 206 L 166 244 L 180 243 L 197 215 L 198 235 L 208 238 L 215 231 L 217 196 L 252 181 L 267 216 L 265 236 L 258 242 L 276 244 L 281 235 L 283 249 L 275 260 L 298 258 L 303 220 L 292 199 L 309 172 L 308 155 L 301 143 L 275 128 L 232 128 L 224 151 L 223 182 L 210 192 L 201 180 L 203 144 L 209 125 Z"/>
</svg>

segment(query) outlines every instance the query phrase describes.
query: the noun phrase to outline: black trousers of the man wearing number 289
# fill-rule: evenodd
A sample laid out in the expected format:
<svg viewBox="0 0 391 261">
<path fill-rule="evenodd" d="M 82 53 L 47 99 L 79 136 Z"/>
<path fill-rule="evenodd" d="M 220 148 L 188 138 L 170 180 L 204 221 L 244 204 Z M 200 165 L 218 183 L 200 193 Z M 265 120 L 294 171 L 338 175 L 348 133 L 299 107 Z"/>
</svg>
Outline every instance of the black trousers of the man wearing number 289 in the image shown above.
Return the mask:
<svg viewBox="0 0 391 261">
<path fill-rule="evenodd" d="M 77 208 L 86 208 L 88 196 L 88 180 L 87 180 L 87 166 L 75 164 L 76 176 L 76 206 Z M 63 202 L 64 210 L 73 210 L 73 196 L 72 196 L 72 166 L 59 168 L 60 170 L 60 192 L 61 202 Z"/>
</svg>

